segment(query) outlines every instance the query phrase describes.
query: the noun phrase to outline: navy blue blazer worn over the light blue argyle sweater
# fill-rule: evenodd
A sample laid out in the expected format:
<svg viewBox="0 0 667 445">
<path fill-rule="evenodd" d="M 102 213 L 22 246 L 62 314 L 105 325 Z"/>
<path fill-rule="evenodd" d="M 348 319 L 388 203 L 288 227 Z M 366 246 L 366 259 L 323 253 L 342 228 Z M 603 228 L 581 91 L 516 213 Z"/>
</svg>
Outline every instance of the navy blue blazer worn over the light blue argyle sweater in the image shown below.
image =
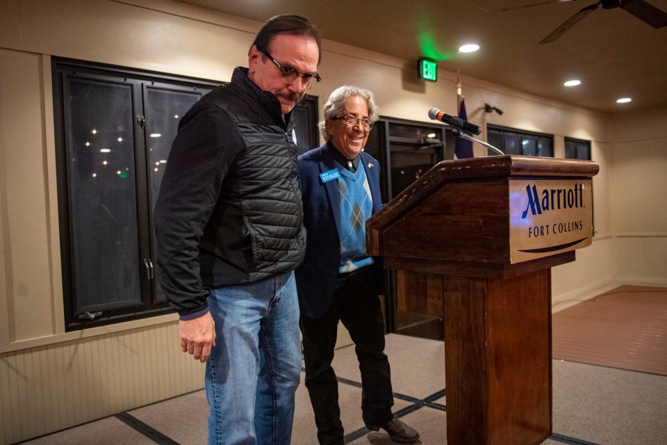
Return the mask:
<svg viewBox="0 0 667 445">
<path fill-rule="evenodd" d="M 306 257 L 296 270 L 297 291 L 301 313 L 319 317 L 331 305 L 340 267 L 340 203 L 338 179 L 322 183 L 320 173 L 336 168 L 330 142 L 299 156 L 299 174 L 304 202 L 304 227 L 306 227 Z M 359 154 L 359 167 L 363 165 L 373 200 L 373 213 L 381 209 L 380 164 L 370 156 Z M 381 272 L 376 260 L 375 266 Z M 384 287 L 379 280 L 379 288 Z"/>
</svg>

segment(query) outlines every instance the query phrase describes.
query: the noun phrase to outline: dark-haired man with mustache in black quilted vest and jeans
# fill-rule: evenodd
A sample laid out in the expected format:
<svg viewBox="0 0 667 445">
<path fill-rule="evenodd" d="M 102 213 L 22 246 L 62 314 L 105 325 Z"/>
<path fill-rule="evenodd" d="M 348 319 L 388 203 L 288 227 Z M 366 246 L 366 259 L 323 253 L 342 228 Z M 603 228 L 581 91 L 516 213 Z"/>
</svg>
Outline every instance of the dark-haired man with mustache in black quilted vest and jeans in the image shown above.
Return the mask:
<svg viewBox="0 0 667 445">
<path fill-rule="evenodd" d="M 320 81 L 320 48 L 303 17 L 270 19 L 249 67 L 183 117 L 167 161 L 160 280 L 181 350 L 206 362 L 209 444 L 290 443 L 306 237 L 291 112 Z"/>
</svg>

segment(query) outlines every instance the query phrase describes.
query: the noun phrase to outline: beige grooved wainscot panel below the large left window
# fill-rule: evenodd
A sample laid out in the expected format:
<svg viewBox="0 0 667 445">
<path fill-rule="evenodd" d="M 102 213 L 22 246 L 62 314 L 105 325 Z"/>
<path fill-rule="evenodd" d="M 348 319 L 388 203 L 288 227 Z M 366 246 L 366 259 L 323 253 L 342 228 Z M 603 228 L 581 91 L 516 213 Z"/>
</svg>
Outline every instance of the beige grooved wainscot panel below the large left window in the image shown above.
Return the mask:
<svg viewBox="0 0 667 445">
<path fill-rule="evenodd" d="M 177 339 L 168 323 L 0 355 L 0 444 L 201 389 Z"/>
</svg>

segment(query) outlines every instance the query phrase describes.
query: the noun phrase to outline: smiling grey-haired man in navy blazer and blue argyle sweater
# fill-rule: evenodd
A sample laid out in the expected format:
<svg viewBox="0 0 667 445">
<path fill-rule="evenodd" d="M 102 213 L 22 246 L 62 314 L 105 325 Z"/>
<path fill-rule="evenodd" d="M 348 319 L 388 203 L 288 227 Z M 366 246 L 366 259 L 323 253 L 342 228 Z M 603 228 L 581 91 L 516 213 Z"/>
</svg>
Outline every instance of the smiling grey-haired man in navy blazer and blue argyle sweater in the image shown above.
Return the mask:
<svg viewBox="0 0 667 445">
<path fill-rule="evenodd" d="M 380 165 L 362 152 L 377 120 L 372 93 L 343 86 L 324 104 L 320 131 L 327 143 L 299 156 L 306 257 L 296 270 L 306 388 L 321 445 L 343 445 L 338 381 L 331 367 L 338 321 L 356 347 L 363 421 L 399 443 L 418 433 L 395 419 L 384 321 L 378 290 L 381 266 L 365 251 L 365 223 L 382 207 Z"/>
</svg>

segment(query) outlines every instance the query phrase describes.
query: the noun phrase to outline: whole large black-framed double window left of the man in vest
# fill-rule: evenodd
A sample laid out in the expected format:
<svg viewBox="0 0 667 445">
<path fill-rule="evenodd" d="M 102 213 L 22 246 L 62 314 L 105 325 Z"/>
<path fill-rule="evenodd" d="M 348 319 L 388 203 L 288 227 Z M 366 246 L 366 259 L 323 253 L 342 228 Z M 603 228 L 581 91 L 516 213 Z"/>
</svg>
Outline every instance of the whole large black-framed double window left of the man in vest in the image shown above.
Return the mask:
<svg viewBox="0 0 667 445">
<path fill-rule="evenodd" d="M 53 79 L 66 330 L 170 312 L 152 207 L 179 120 L 215 83 L 58 58 Z"/>
</svg>

